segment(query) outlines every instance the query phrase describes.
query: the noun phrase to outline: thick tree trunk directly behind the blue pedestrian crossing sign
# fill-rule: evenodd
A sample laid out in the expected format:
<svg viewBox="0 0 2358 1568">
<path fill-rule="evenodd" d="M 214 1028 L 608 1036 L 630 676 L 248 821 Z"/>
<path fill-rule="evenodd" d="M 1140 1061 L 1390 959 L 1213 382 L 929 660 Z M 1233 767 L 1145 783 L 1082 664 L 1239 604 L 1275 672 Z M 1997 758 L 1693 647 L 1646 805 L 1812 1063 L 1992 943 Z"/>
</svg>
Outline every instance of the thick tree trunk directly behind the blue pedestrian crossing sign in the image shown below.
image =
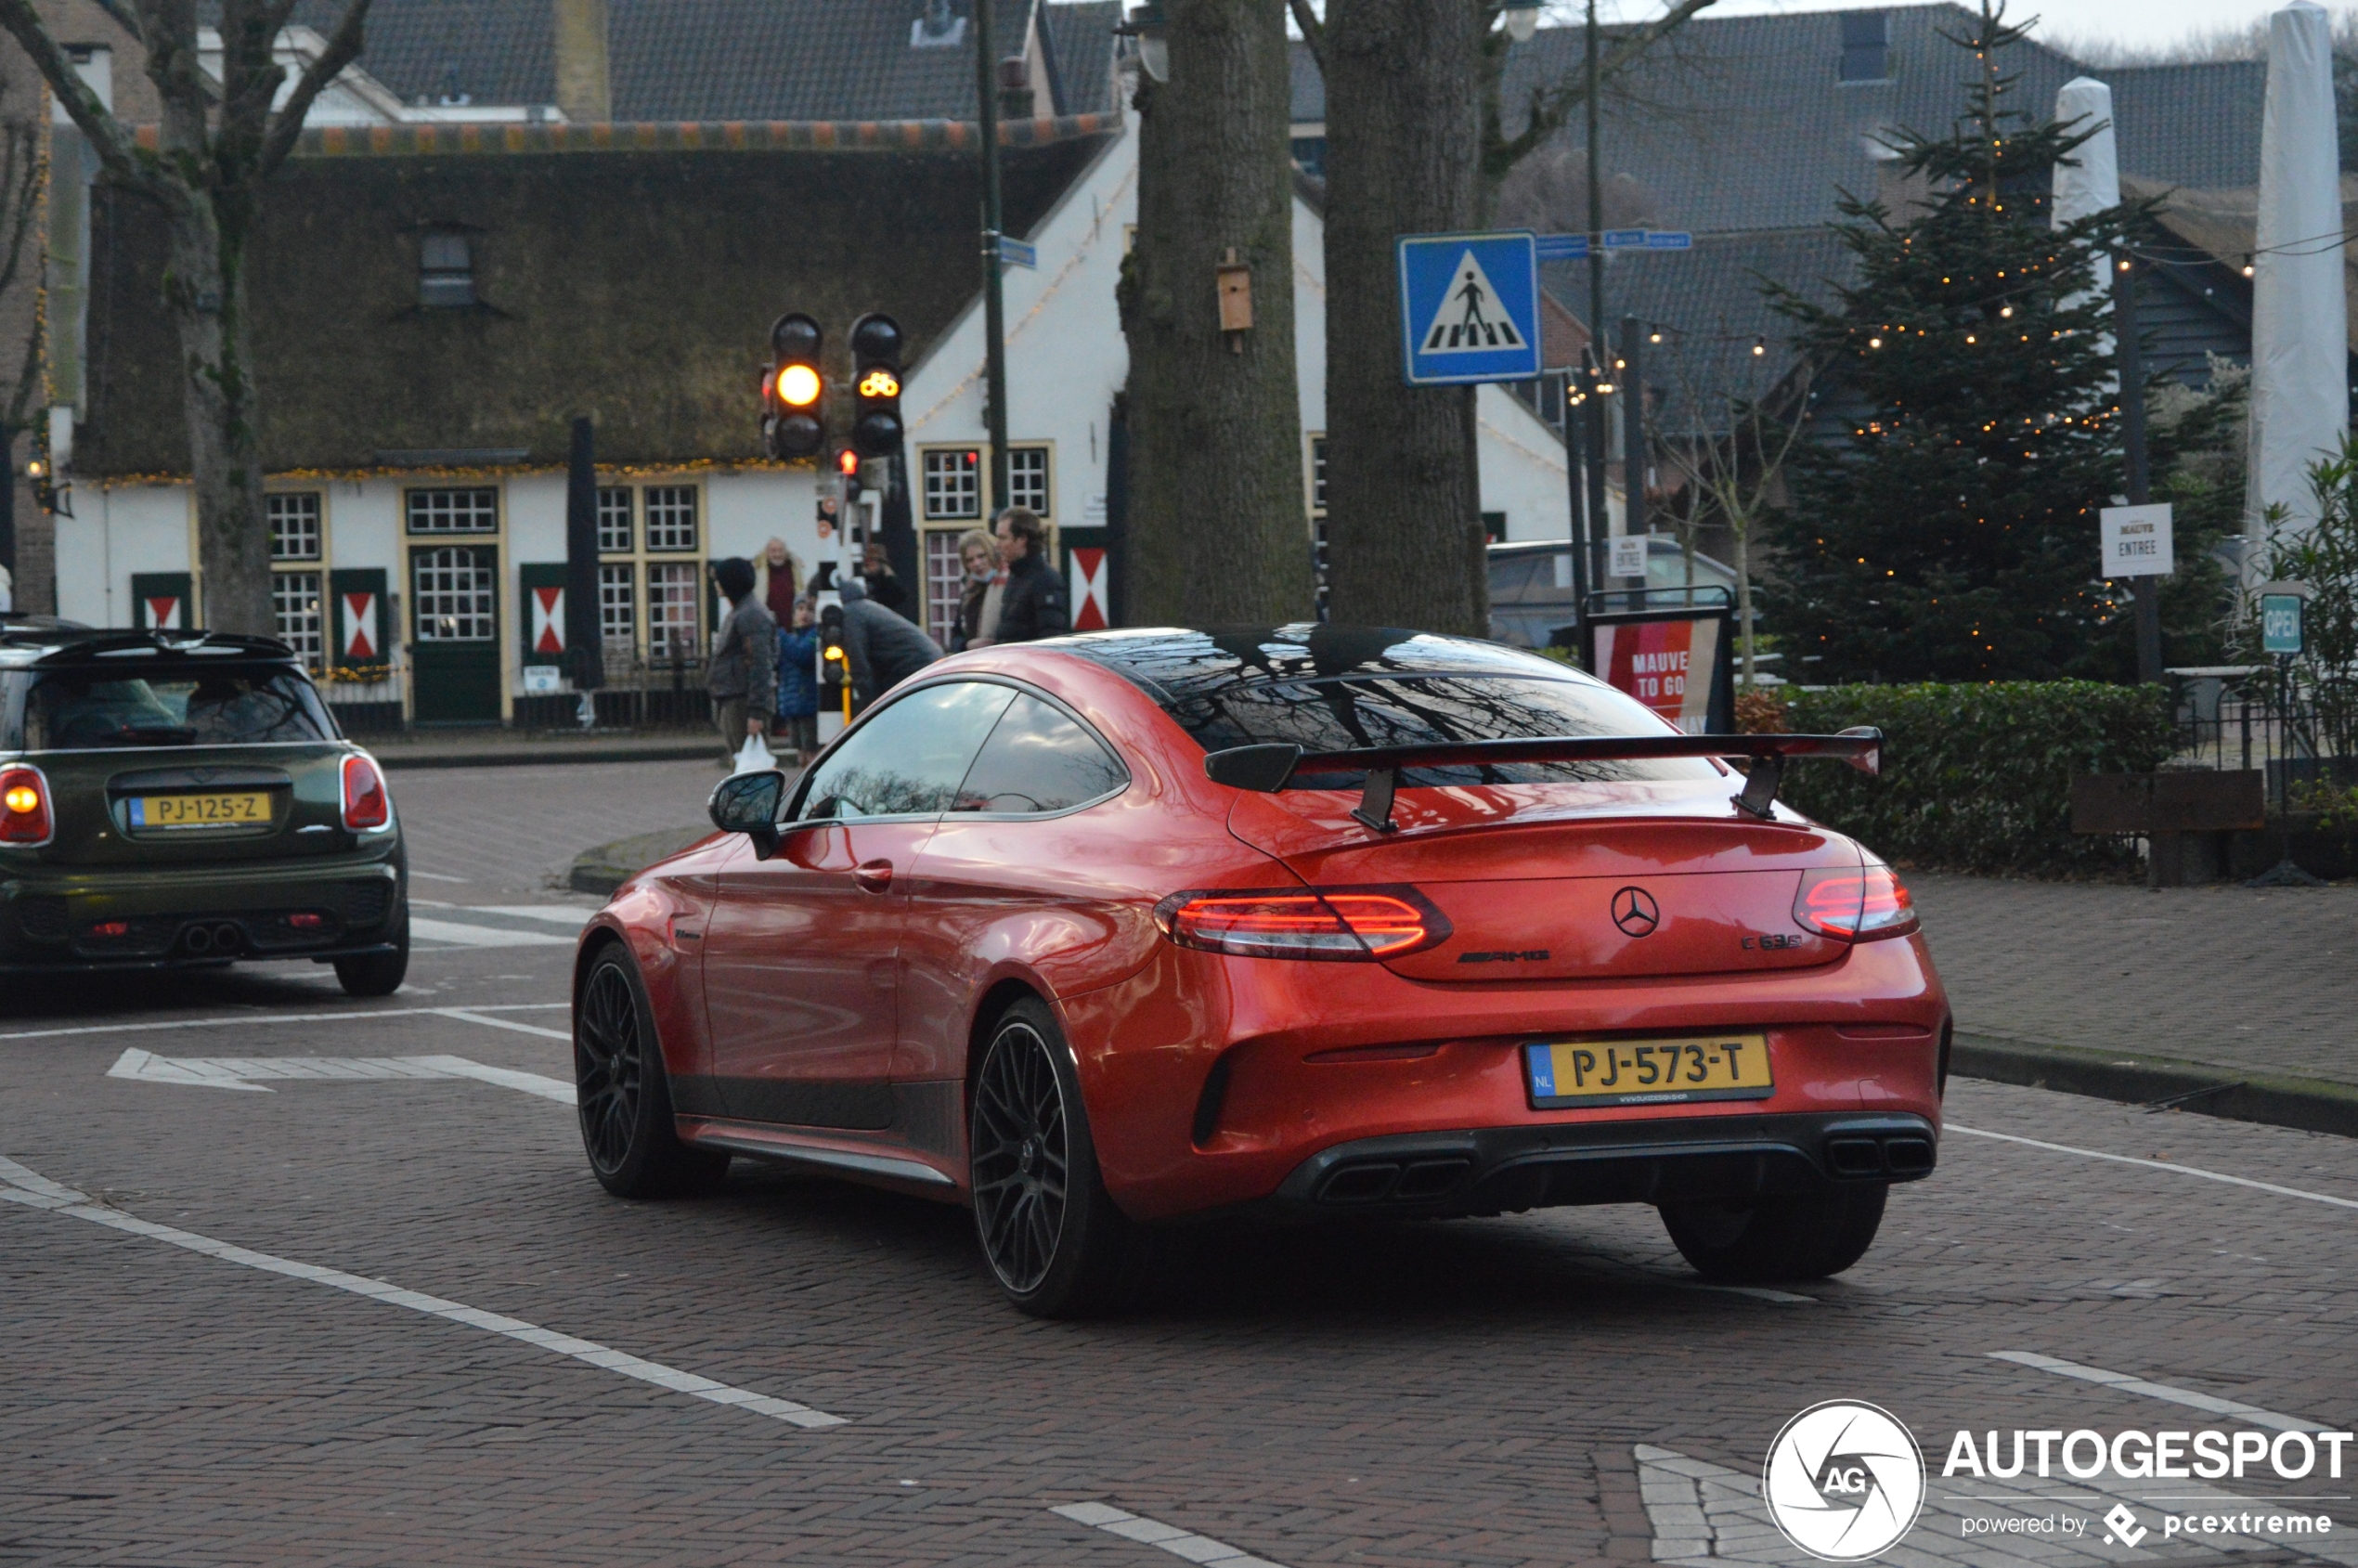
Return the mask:
<svg viewBox="0 0 2358 1568">
<path fill-rule="evenodd" d="M 1398 233 L 1483 210 L 1488 12 L 1332 0 L 1328 73 L 1328 564 L 1335 620 L 1486 634 L 1474 389 L 1401 380 Z"/>
</svg>

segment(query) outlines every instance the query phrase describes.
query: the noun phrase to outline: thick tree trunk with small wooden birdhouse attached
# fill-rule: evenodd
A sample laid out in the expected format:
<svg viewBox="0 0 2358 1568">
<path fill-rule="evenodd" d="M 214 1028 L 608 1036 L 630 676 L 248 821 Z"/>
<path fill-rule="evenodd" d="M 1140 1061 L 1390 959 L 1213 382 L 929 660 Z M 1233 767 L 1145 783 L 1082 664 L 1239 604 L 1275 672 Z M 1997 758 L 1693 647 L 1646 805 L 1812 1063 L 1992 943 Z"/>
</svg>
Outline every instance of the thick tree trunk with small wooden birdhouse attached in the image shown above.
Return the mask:
<svg viewBox="0 0 2358 1568">
<path fill-rule="evenodd" d="M 1295 380 L 1290 61 L 1283 0 L 1177 0 L 1170 80 L 1139 94 L 1129 337 L 1129 618 L 1311 611 Z M 1252 325 L 1221 328 L 1221 266 Z"/>
</svg>

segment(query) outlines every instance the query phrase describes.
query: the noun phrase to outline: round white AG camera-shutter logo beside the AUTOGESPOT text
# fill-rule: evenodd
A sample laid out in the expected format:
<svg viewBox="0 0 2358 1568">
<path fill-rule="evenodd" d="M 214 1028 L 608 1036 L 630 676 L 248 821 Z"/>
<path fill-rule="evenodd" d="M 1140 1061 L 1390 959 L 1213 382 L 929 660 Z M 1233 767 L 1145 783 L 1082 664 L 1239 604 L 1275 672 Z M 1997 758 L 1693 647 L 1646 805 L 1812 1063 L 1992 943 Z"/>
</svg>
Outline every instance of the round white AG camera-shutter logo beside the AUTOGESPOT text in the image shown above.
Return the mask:
<svg viewBox="0 0 2358 1568">
<path fill-rule="evenodd" d="M 1898 1544 L 1924 1509 L 1924 1450 L 1891 1412 L 1830 1398 L 1785 1422 L 1761 1467 L 1785 1540 L 1830 1563 Z"/>
</svg>

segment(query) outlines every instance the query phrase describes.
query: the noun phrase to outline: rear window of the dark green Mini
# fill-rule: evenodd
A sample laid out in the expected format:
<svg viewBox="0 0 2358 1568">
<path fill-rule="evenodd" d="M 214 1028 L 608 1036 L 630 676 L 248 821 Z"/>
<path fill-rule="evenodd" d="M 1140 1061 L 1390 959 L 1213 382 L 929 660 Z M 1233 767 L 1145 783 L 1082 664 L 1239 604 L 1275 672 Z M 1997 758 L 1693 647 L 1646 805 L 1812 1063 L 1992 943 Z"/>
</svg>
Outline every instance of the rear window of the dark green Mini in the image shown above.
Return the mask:
<svg viewBox="0 0 2358 1568">
<path fill-rule="evenodd" d="M 309 677 L 288 665 L 31 670 L 7 679 L 14 686 L 0 703 L 7 750 L 269 745 L 337 733 Z"/>
</svg>

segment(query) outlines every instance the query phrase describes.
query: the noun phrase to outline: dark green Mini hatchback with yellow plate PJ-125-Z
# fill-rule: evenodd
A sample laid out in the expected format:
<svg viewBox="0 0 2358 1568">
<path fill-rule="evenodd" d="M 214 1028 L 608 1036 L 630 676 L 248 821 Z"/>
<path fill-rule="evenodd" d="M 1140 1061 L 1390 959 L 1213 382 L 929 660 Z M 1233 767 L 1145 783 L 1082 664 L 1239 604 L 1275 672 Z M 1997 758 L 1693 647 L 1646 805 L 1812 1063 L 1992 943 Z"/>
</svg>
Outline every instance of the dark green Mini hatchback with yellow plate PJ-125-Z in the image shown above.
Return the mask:
<svg viewBox="0 0 2358 1568">
<path fill-rule="evenodd" d="M 0 620 L 0 974 L 410 964 L 377 762 L 266 637 Z"/>
</svg>

